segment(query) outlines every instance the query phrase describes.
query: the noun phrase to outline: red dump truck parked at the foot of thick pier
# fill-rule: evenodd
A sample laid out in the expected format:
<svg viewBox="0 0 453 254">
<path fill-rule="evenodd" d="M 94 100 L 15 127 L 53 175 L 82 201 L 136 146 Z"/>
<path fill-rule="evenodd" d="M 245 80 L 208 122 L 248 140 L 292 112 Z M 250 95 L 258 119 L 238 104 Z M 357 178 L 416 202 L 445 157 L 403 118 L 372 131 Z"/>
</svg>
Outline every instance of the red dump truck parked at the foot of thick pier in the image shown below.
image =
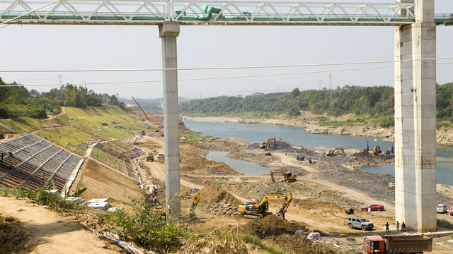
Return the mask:
<svg viewBox="0 0 453 254">
<path fill-rule="evenodd" d="M 363 254 L 423 253 L 432 251 L 432 238 L 427 236 L 365 236 Z"/>
</svg>

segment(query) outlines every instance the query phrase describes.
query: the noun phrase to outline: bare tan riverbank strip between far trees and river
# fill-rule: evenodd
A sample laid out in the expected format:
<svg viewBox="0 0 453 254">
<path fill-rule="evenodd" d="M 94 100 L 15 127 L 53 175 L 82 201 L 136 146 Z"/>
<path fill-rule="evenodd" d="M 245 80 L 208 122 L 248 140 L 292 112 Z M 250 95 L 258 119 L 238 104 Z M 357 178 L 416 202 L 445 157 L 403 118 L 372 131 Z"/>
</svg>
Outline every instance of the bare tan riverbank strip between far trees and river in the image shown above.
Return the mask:
<svg viewBox="0 0 453 254">
<path fill-rule="evenodd" d="M 319 126 L 316 121 L 310 120 L 313 116 L 309 113 L 304 114 L 304 119 L 285 119 L 279 117 L 267 119 L 242 119 L 240 117 L 229 116 L 207 116 L 191 117 L 182 116 L 183 120 L 207 121 L 217 123 L 256 123 L 282 126 L 297 126 L 304 128 L 306 133 L 326 134 L 326 135 L 350 135 L 352 137 L 371 137 L 382 138 L 386 141 L 395 140 L 395 128 L 383 128 L 381 126 Z M 453 146 L 453 130 L 441 128 L 436 133 L 437 145 Z"/>
</svg>

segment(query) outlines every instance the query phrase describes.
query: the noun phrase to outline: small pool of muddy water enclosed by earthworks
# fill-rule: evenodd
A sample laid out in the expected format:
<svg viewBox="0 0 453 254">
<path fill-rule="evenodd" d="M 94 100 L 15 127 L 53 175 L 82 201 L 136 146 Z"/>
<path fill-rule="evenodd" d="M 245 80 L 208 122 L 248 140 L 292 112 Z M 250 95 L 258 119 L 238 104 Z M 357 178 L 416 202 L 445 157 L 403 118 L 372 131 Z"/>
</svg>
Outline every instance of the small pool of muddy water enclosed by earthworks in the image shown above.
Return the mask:
<svg viewBox="0 0 453 254">
<path fill-rule="evenodd" d="M 245 174 L 246 176 L 256 176 L 261 174 L 269 174 L 270 170 L 277 169 L 275 167 L 263 167 L 256 162 L 248 162 L 243 159 L 233 159 L 226 157 L 228 152 L 212 151 L 206 155 L 206 159 L 212 159 L 216 162 L 224 162 L 234 171 Z"/>
</svg>

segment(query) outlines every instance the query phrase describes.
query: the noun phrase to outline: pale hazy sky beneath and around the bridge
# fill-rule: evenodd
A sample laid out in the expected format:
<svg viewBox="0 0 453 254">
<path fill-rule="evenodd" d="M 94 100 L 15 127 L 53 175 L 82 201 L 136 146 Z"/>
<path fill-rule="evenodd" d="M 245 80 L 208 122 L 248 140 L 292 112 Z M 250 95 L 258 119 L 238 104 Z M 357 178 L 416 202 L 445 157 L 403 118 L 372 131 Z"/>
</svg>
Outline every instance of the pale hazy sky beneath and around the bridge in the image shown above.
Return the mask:
<svg viewBox="0 0 453 254">
<path fill-rule="evenodd" d="M 314 2 L 315 0 L 311 0 Z M 323 1 L 325 2 L 325 1 Z M 352 2 L 349 0 L 348 2 Z M 377 1 L 355 1 L 372 3 Z M 385 1 L 389 2 L 389 1 Z M 453 1 L 436 0 L 436 13 L 453 13 Z M 394 27 L 340 26 L 181 26 L 178 67 L 265 66 L 303 63 L 388 61 L 394 59 Z M 161 38 L 156 26 L 9 25 L 0 29 L 0 69 L 161 68 Z M 437 57 L 453 56 L 453 26 L 437 27 Z M 447 61 L 453 61 L 449 59 Z M 438 61 L 440 63 L 441 61 Z M 390 65 L 380 63 L 375 66 Z M 367 65 L 369 66 L 369 65 Z M 178 78 L 357 68 L 326 66 L 229 71 L 180 71 Z M 437 64 L 437 83 L 453 81 L 453 63 Z M 332 73 L 338 85 L 394 85 L 394 68 Z M 59 73 L 0 73 L 6 83 L 59 84 Z M 120 97 L 162 96 L 162 73 L 62 73 L 62 83 L 124 81 L 120 85 L 88 85 L 95 92 Z M 28 87 L 48 91 L 52 87 Z M 329 72 L 260 78 L 180 81 L 182 97 L 250 95 L 329 88 Z"/>
</svg>

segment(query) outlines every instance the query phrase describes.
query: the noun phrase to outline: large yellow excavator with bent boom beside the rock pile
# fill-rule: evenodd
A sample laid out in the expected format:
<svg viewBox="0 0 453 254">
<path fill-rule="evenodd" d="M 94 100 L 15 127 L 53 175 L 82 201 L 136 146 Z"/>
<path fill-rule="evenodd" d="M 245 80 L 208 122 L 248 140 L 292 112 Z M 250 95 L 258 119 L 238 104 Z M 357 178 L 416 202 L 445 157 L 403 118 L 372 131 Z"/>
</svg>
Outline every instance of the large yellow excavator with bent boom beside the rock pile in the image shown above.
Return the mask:
<svg viewBox="0 0 453 254">
<path fill-rule="evenodd" d="M 260 202 L 245 202 L 239 205 L 239 212 L 243 212 L 242 216 L 249 219 L 261 219 L 263 218 L 269 209 L 269 200 L 271 199 L 283 199 L 282 207 L 275 212 L 275 217 L 285 219 L 285 212 L 292 200 L 292 193 L 270 193 L 266 194 L 261 198 Z"/>
</svg>

